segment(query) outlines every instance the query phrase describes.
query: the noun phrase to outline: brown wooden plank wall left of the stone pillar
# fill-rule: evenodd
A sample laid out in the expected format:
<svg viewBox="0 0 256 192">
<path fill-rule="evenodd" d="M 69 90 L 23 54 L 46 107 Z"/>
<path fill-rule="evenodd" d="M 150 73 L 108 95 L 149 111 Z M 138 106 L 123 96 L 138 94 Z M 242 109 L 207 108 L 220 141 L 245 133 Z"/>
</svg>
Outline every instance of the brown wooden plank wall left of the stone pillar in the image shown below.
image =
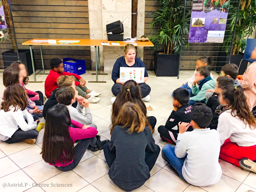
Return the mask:
<svg viewBox="0 0 256 192">
<path fill-rule="evenodd" d="M 90 38 L 87 0 L 11 0 L 11 5 L 19 49 L 29 49 L 21 43 L 32 38 Z M 12 48 L 11 44 L 8 46 Z M 40 47 L 32 48 L 36 68 L 42 68 Z M 42 49 L 45 68 L 50 68 L 51 58 L 70 57 L 86 60 L 86 69 L 91 69 L 90 47 L 42 46 Z"/>
</svg>

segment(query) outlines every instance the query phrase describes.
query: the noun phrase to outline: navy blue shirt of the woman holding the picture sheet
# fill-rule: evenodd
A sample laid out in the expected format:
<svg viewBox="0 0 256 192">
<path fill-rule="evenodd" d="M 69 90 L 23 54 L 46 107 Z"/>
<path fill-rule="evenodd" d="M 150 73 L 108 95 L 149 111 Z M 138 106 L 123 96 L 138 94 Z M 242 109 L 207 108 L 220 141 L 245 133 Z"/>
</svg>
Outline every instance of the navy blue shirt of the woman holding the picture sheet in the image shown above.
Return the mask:
<svg viewBox="0 0 256 192">
<path fill-rule="evenodd" d="M 133 66 L 128 66 L 125 62 L 124 56 L 118 58 L 114 64 L 113 70 L 112 70 L 112 80 L 116 83 L 116 80 L 120 78 L 120 67 L 144 67 L 144 77 L 148 77 L 148 72 L 146 70 L 146 67 L 140 58 L 135 57 L 135 63 Z"/>
</svg>

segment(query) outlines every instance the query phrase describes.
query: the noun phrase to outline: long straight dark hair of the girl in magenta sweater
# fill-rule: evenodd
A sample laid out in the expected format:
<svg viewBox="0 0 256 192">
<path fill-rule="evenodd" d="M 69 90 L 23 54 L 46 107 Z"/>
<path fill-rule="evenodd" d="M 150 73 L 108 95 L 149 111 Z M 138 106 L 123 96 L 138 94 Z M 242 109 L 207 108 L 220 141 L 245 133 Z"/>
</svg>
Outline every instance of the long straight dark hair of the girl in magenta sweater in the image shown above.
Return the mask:
<svg viewBox="0 0 256 192">
<path fill-rule="evenodd" d="M 74 159 L 74 144 L 68 131 L 70 124 L 70 114 L 64 104 L 54 105 L 47 111 L 40 153 L 46 163 L 65 164 Z"/>
</svg>

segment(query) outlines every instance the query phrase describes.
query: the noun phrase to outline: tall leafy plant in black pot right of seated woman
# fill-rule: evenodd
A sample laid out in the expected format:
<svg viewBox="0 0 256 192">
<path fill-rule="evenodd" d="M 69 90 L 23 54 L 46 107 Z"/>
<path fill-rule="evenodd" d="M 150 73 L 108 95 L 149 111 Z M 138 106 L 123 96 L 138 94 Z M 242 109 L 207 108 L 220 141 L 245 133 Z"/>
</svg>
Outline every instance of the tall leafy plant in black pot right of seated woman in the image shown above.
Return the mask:
<svg viewBox="0 0 256 192">
<path fill-rule="evenodd" d="M 154 72 L 156 76 L 178 76 L 182 23 L 184 15 L 184 0 L 160 0 L 159 9 L 152 14 L 154 16 L 150 23 L 150 34 L 153 26 L 159 28 L 154 36 L 149 37 L 154 44 L 154 49 L 164 45 L 162 52 L 155 51 Z M 188 22 L 188 14 L 185 21 Z M 188 25 L 184 25 L 183 34 L 188 34 Z"/>
</svg>

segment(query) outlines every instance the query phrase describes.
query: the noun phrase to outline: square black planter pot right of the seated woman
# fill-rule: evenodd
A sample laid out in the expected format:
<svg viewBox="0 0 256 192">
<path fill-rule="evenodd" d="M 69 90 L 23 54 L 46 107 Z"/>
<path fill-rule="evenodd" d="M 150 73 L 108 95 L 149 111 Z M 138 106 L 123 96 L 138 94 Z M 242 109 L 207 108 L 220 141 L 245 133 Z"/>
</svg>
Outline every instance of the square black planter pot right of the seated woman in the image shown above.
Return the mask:
<svg viewBox="0 0 256 192">
<path fill-rule="evenodd" d="M 156 76 L 178 76 L 180 55 L 159 54 L 155 51 L 154 72 Z"/>
</svg>

